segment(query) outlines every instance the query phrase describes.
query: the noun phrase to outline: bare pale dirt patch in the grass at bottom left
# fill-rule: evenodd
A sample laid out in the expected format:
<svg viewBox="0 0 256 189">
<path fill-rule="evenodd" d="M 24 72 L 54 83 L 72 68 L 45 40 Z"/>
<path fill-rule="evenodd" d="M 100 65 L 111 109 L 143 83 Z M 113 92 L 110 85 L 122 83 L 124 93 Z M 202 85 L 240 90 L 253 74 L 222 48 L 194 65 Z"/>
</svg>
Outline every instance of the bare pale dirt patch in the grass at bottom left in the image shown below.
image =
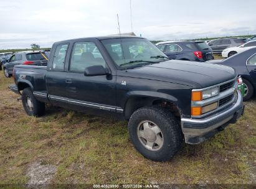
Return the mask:
<svg viewBox="0 0 256 189">
<path fill-rule="evenodd" d="M 57 168 L 54 165 L 41 165 L 40 162 L 32 163 L 27 170 L 27 176 L 29 177 L 28 187 L 49 184 L 56 171 Z"/>
</svg>

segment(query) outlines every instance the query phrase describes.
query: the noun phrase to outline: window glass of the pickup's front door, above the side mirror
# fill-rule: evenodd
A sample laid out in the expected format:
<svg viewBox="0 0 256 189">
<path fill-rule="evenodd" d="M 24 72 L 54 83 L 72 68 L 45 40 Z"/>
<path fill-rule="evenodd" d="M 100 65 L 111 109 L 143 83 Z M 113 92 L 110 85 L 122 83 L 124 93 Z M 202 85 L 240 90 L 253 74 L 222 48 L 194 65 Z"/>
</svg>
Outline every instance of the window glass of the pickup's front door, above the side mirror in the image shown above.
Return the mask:
<svg viewBox="0 0 256 189">
<path fill-rule="evenodd" d="M 93 42 L 76 42 L 70 59 L 70 71 L 83 72 L 94 65 L 106 67 L 106 62 Z"/>
</svg>

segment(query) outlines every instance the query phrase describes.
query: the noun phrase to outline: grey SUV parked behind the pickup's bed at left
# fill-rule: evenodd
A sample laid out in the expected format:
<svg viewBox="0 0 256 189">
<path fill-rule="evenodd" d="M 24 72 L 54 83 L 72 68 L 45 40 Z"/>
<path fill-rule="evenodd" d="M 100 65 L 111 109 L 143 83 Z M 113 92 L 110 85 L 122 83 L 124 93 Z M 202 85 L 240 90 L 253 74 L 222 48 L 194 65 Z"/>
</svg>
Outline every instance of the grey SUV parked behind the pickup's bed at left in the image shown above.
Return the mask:
<svg viewBox="0 0 256 189">
<path fill-rule="evenodd" d="M 43 55 L 42 55 L 43 54 Z M 47 65 L 46 53 L 42 52 L 17 52 L 4 63 L 4 75 L 9 78 L 12 75 L 14 65 Z"/>
</svg>

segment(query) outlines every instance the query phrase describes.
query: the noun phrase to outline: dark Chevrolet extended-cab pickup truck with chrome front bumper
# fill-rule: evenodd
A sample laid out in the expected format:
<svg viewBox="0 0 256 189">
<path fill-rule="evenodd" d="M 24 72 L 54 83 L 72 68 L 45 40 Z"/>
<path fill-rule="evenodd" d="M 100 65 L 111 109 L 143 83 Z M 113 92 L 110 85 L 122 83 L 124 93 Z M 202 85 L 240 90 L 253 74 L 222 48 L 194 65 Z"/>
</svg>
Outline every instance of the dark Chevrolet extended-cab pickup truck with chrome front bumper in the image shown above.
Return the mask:
<svg viewBox="0 0 256 189">
<path fill-rule="evenodd" d="M 244 112 L 233 68 L 169 60 L 141 37 L 56 42 L 47 67 L 16 65 L 13 78 L 9 88 L 30 116 L 50 103 L 126 119 L 135 148 L 154 161 L 209 139 Z"/>
</svg>

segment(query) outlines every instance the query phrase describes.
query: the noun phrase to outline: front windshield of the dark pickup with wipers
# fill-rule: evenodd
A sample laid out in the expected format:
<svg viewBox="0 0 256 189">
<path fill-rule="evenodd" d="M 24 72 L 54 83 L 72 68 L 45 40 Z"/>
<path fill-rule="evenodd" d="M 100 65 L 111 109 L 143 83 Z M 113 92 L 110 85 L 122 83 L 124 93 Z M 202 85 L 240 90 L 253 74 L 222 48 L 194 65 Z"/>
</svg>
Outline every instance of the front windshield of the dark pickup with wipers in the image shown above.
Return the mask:
<svg viewBox="0 0 256 189">
<path fill-rule="evenodd" d="M 146 39 L 116 38 L 101 40 L 101 42 L 120 68 L 169 60 L 159 48 Z"/>
</svg>

